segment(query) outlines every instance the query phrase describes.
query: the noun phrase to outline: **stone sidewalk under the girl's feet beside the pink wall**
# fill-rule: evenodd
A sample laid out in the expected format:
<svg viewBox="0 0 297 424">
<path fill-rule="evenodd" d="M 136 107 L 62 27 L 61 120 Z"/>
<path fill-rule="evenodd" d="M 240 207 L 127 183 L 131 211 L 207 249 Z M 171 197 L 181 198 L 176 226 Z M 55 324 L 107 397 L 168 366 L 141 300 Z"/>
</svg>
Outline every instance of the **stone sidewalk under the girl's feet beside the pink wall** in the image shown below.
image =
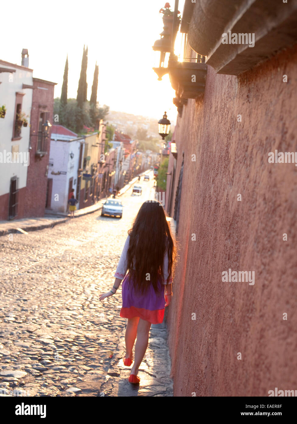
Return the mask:
<svg viewBox="0 0 297 424">
<path fill-rule="evenodd" d="M 167 315 L 165 309 L 165 317 Z M 166 319 L 164 317 L 164 320 Z M 134 345 L 135 346 L 135 345 Z M 164 324 L 152 324 L 150 338 L 144 359 L 139 367 L 139 384 L 128 382 L 130 369 L 123 363 L 125 357 L 125 329 L 119 338 L 119 344 L 111 360 L 105 382 L 97 396 L 132 397 L 173 396 L 173 382 L 170 378 L 171 360 L 167 347 L 167 329 Z M 134 358 L 134 349 L 133 349 Z"/>
</svg>

